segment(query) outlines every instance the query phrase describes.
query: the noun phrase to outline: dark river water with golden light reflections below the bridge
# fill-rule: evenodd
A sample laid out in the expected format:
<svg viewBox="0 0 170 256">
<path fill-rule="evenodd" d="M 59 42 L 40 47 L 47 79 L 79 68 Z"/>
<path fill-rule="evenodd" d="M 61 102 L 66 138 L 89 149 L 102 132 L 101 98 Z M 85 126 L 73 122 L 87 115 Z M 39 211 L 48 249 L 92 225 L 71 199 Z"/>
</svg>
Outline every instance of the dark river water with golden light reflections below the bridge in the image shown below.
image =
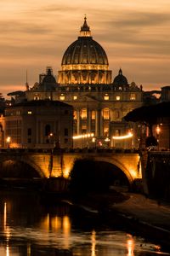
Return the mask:
<svg viewBox="0 0 170 256">
<path fill-rule="evenodd" d="M 49 207 L 37 192 L 0 191 L 0 256 L 170 255 L 119 226 L 65 203 Z"/>
</svg>

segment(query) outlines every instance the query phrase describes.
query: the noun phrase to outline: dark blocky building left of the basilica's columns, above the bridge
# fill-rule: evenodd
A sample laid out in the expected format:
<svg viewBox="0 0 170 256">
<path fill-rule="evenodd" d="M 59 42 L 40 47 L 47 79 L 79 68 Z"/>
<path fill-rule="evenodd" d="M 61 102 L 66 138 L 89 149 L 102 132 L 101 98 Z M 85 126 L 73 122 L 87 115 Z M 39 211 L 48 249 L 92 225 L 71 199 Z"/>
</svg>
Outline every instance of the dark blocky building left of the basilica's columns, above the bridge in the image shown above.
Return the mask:
<svg viewBox="0 0 170 256">
<path fill-rule="evenodd" d="M 5 109 L 4 143 L 10 148 L 72 148 L 72 107 L 57 101 L 30 101 Z"/>
</svg>

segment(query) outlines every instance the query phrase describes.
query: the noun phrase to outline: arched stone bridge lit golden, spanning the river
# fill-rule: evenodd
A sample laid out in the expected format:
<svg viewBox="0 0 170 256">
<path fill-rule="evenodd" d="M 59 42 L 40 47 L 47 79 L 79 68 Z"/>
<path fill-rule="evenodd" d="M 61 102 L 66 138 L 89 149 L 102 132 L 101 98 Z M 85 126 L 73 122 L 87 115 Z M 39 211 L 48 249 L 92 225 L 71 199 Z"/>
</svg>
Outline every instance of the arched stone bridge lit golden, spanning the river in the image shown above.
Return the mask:
<svg viewBox="0 0 170 256">
<path fill-rule="evenodd" d="M 3 148 L 0 149 L 0 170 L 6 163 L 20 162 L 31 166 L 39 177 L 69 177 L 74 163 L 79 159 L 91 159 L 118 167 L 131 184 L 140 179 L 141 161 L 138 151 L 133 150 L 80 150 L 61 151 L 45 149 Z M 81 172 L 81 170 L 80 170 Z M 0 171 L 1 174 L 1 171 Z"/>
</svg>

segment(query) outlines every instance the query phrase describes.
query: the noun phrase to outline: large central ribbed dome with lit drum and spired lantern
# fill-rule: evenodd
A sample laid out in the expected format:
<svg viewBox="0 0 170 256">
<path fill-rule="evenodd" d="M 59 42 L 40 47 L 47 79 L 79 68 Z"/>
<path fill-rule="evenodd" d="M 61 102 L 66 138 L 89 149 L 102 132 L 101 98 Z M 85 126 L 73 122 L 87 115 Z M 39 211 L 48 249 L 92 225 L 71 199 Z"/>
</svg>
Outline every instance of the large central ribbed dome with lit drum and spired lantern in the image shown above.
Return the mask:
<svg viewBox="0 0 170 256">
<path fill-rule="evenodd" d="M 111 71 L 105 50 L 91 36 L 87 18 L 80 36 L 63 55 L 59 84 L 110 84 Z"/>
</svg>

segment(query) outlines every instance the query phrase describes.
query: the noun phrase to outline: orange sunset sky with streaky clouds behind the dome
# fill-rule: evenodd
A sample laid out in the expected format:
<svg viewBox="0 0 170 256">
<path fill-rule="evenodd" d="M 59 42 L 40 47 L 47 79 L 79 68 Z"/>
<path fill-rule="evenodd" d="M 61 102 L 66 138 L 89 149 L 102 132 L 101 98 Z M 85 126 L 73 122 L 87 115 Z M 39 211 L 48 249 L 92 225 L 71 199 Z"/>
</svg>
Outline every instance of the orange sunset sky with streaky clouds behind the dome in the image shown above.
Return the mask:
<svg viewBox="0 0 170 256">
<path fill-rule="evenodd" d="M 144 90 L 170 84 L 170 0 L 0 0 L 0 92 L 33 86 L 39 73 L 60 69 L 84 15 L 108 56 Z"/>
</svg>

